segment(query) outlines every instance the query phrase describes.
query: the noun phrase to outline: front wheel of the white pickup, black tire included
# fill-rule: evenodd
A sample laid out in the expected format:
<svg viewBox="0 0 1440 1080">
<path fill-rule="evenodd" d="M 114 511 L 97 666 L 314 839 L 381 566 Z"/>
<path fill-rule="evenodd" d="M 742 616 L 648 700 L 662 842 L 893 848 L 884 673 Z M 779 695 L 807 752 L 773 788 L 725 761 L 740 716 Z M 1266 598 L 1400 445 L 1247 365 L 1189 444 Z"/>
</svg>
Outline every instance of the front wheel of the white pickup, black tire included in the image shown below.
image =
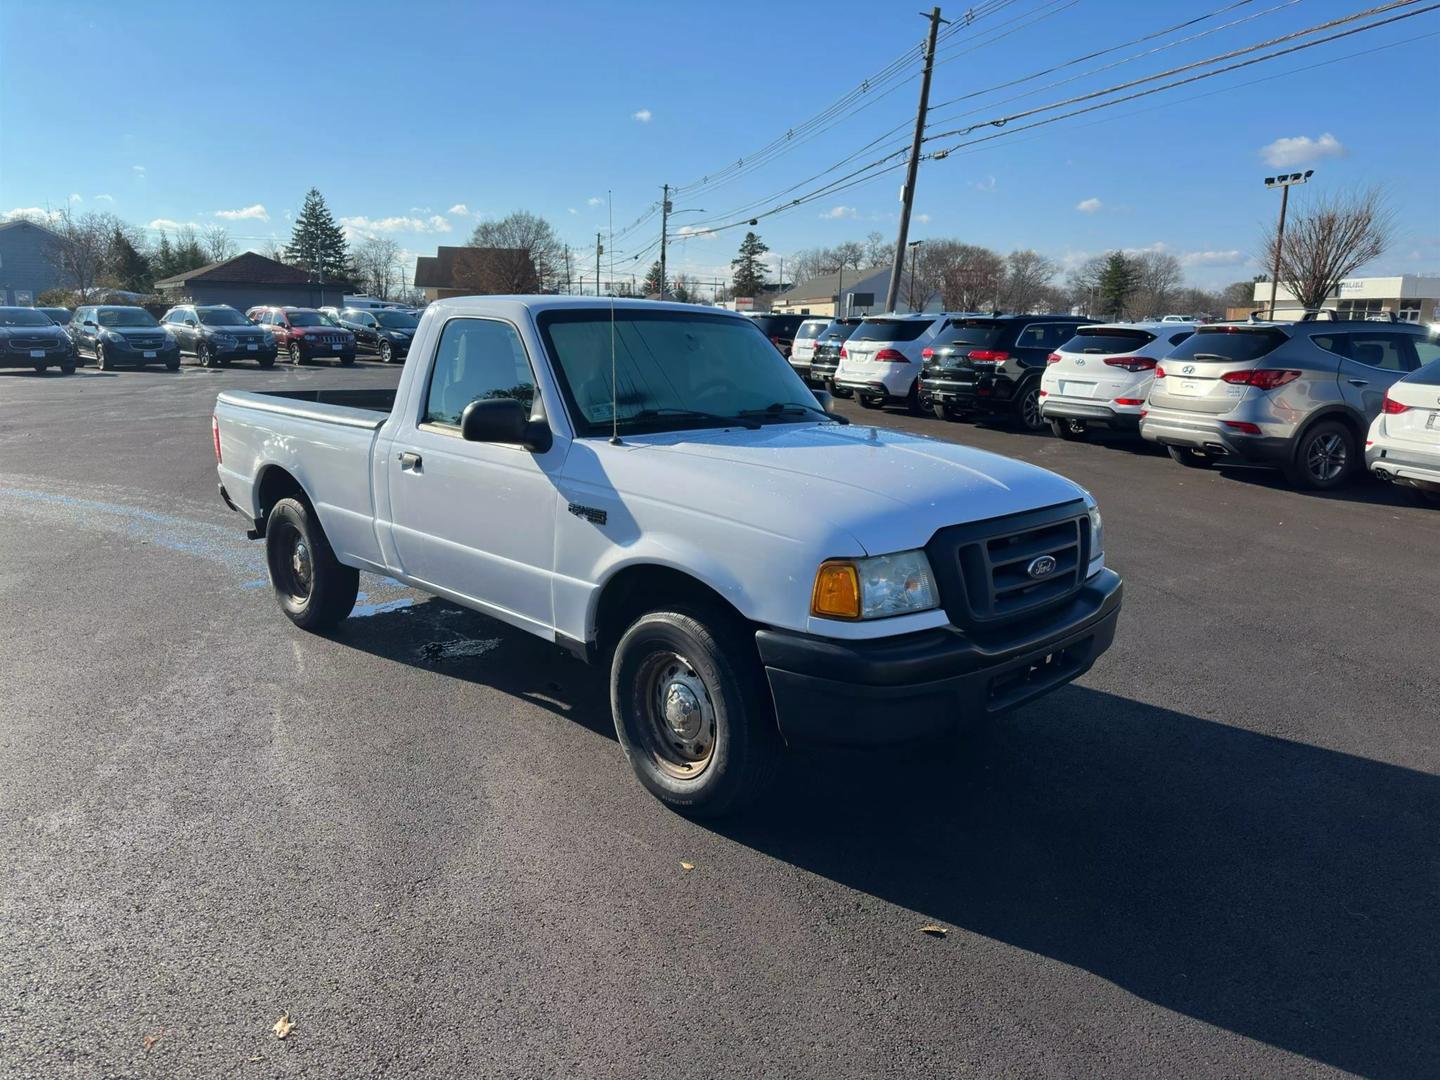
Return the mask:
<svg viewBox="0 0 1440 1080">
<path fill-rule="evenodd" d="M 693 732 L 668 723 L 667 690 Z M 780 736 L 755 639 L 720 606 L 636 618 L 615 647 L 611 710 L 639 782 L 688 816 L 742 809 L 779 763 Z"/>
</svg>

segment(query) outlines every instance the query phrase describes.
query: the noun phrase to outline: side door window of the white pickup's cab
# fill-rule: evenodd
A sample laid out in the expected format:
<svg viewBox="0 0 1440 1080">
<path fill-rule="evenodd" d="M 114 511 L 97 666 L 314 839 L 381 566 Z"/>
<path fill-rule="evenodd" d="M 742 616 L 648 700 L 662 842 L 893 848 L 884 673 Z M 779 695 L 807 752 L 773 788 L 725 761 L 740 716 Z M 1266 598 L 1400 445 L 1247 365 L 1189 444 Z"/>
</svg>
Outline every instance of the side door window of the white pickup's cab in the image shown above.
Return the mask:
<svg viewBox="0 0 1440 1080">
<path fill-rule="evenodd" d="M 423 422 L 459 425 L 459 415 L 477 397 L 514 397 L 528 406 L 534 402 L 534 382 L 526 347 L 513 325 L 452 318 L 435 350 Z"/>
</svg>

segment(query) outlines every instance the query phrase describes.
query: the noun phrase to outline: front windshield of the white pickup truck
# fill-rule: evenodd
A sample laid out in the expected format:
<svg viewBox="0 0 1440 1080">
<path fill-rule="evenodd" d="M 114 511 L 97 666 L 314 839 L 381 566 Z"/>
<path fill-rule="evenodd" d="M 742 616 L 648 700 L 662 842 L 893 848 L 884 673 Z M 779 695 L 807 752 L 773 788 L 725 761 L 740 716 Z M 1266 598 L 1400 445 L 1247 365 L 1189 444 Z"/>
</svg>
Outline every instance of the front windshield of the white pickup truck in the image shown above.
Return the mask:
<svg viewBox="0 0 1440 1080">
<path fill-rule="evenodd" d="M 612 420 L 621 432 L 654 432 L 753 426 L 742 413 L 785 405 L 798 408 L 773 419 L 801 420 L 804 408 L 818 409 L 749 318 L 616 308 L 612 325 L 609 308 L 579 308 L 543 312 L 539 324 L 580 435 L 608 435 Z"/>
</svg>

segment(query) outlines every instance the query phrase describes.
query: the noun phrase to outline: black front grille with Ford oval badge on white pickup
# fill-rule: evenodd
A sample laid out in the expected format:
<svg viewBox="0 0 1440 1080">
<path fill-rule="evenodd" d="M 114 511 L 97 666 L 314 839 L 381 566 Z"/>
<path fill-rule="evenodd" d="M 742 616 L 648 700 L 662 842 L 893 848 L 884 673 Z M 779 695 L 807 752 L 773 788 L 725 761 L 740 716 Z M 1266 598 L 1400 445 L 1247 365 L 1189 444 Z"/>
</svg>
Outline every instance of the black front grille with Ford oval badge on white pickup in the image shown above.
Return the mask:
<svg viewBox="0 0 1440 1080">
<path fill-rule="evenodd" d="M 926 546 L 950 622 L 1005 626 L 1064 603 L 1084 583 L 1090 518 L 1084 503 L 942 528 Z M 1038 564 L 1037 564 L 1037 560 Z M 1032 576 L 1031 567 L 1053 569 Z"/>
</svg>

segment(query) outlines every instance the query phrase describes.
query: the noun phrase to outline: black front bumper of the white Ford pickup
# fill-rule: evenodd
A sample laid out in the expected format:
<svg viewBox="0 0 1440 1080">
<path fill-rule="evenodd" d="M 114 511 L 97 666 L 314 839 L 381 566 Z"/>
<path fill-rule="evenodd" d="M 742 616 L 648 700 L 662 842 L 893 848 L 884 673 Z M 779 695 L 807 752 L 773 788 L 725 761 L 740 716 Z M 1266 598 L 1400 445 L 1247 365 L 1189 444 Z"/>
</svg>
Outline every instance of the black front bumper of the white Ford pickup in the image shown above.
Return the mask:
<svg viewBox="0 0 1440 1080">
<path fill-rule="evenodd" d="M 942 628 L 871 641 L 779 629 L 756 645 L 791 744 L 874 746 L 930 739 L 1079 678 L 1115 641 L 1123 585 L 1100 570 L 1061 609 L 968 636 Z"/>
</svg>

